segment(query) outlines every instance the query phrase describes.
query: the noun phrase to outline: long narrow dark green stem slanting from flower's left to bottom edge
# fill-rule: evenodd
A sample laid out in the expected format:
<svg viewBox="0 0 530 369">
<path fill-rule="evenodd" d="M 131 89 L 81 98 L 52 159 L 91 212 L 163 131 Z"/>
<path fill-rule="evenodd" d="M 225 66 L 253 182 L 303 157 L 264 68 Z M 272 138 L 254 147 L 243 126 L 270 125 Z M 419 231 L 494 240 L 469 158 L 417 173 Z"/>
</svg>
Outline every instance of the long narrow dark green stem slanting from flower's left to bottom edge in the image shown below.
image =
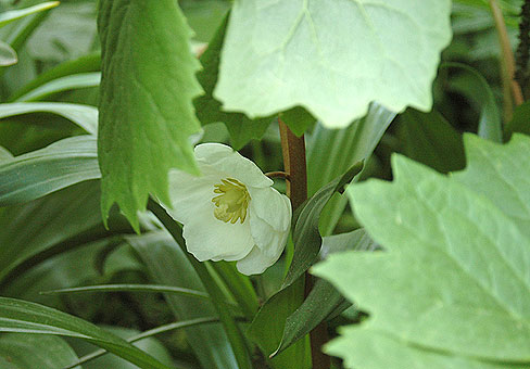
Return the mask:
<svg viewBox="0 0 530 369">
<path fill-rule="evenodd" d="M 182 237 L 182 227 L 176 222 L 169 214 L 157 202 L 149 199 L 148 208 L 151 211 L 156 218 L 164 225 L 167 231 L 172 234 L 175 241 L 178 243 L 180 249 L 182 249 L 185 255 L 188 257 L 191 266 L 195 270 L 197 275 L 201 279 L 202 284 L 206 289 L 207 294 L 212 298 L 213 305 L 219 315 L 219 320 L 222 321 L 226 335 L 230 341 L 234 348 L 234 354 L 236 360 L 238 361 L 239 369 L 252 369 L 252 364 L 248 351 L 248 346 L 244 342 L 243 335 L 236 325 L 235 318 L 230 314 L 229 306 L 225 302 L 225 295 L 223 291 L 217 287 L 215 281 L 210 276 L 206 265 L 195 259 L 186 250 L 186 241 Z"/>
</svg>

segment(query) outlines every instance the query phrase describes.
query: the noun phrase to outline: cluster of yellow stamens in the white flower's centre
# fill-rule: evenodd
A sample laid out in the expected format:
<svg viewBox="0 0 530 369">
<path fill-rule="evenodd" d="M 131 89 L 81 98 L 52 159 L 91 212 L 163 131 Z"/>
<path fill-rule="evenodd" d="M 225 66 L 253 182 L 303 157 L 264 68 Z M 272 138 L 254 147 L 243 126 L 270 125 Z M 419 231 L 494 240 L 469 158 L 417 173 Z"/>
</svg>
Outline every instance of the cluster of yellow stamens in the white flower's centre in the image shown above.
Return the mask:
<svg viewBox="0 0 530 369">
<path fill-rule="evenodd" d="M 242 224 L 247 218 L 247 208 L 250 203 L 247 187 L 234 178 L 226 178 L 220 181 L 223 183 L 214 186 L 214 193 L 219 193 L 212 199 L 215 204 L 214 216 L 224 222 L 236 224 L 240 219 Z"/>
</svg>

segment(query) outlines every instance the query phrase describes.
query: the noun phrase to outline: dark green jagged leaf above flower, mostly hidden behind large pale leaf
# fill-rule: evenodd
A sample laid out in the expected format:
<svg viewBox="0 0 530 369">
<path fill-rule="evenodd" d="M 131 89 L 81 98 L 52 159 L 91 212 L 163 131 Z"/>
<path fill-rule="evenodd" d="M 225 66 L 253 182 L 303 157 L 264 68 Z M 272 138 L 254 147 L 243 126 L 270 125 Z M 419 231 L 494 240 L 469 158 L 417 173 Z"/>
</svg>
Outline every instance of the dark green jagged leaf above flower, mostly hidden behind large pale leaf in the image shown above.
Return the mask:
<svg viewBox="0 0 530 369">
<path fill-rule="evenodd" d="M 220 109 L 220 102 L 212 96 L 219 73 L 220 50 L 223 49 L 227 17 L 217 29 L 206 51 L 201 55 L 203 69 L 197 74 L 197 79 L 201 82 L 205 94 L 197 98 L 193 103 L 197 117 L 201 124 L 223 122 L 228 128 L 234 149 L 239 150 L 251 139 L 260 140 L 273 122 L 273 117 L 250 119 L 242 113 L 224 112 Z"/>
</svg>

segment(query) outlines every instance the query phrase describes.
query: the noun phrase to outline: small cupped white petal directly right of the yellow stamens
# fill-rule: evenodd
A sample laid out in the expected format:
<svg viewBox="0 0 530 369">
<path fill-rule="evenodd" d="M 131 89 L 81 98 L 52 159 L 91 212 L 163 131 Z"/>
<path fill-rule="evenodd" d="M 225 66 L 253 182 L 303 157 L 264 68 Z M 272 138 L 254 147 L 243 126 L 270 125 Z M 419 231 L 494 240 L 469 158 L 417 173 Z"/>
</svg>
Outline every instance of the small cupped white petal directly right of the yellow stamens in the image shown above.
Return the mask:
<svg viewBox="0 0 530 369">
<path fill-rule="evenodd" d="M 250 211 L 277 231 L 285 231 L 291 225 L 291 202 L 273 188 L 248 188 L 251 198 Z"/>
</svg>

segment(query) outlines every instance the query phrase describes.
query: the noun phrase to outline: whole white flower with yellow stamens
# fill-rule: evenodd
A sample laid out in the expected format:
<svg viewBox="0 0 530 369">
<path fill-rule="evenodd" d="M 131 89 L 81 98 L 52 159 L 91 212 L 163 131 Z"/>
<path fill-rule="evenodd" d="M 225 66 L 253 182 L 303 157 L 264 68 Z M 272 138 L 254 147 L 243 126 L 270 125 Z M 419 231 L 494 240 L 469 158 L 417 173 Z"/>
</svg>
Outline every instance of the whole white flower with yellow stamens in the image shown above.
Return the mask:
<svg viewBox="0 0 530 369">
<path fill-rule="evenodd" d="M 172 216 L 184 225 L 199 260 L 238 260 L 244 275 L 263 272 L 281 255 L 291 224 L 289 199 L 248 158 L 219 143 L 195 147 L 202 176 L 172 171 Z"/>
</svg>

